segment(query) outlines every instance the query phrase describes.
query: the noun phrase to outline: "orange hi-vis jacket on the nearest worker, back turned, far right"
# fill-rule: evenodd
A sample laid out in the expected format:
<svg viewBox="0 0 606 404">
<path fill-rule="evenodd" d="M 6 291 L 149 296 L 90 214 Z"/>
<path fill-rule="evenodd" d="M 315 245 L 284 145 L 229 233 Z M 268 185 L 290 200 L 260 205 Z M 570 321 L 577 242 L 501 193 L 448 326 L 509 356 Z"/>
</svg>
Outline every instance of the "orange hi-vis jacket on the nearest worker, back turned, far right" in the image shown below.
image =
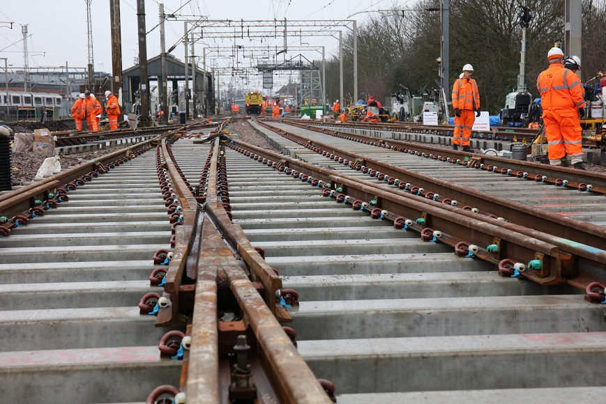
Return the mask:
<svg viewBox="0 0 606 404">
<path fill-rule="evenodd" d="M 540 93 L 543 111 L 552 108 L 579 109 L 585 106 L 579 76 L 559 63 L 550 65 L 538 75 L 536 88 Z"/>
</svg>

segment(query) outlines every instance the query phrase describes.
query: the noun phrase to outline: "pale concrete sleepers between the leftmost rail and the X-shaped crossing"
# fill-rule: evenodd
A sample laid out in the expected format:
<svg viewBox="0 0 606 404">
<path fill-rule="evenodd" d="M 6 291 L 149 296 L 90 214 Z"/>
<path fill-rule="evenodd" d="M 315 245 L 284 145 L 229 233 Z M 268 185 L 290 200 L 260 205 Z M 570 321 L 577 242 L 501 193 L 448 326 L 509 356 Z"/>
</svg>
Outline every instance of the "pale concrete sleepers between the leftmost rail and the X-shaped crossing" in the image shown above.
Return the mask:
<svg viewBox="0 0 606 404">
<path fill-rule="evenodd" d="M 137 307 L 171 239 L 154 153 L 138 148 L 0 240 L 3 400 L 137 401 L 179 382 L 157 355 L 165 330 Z"/>
</svg>

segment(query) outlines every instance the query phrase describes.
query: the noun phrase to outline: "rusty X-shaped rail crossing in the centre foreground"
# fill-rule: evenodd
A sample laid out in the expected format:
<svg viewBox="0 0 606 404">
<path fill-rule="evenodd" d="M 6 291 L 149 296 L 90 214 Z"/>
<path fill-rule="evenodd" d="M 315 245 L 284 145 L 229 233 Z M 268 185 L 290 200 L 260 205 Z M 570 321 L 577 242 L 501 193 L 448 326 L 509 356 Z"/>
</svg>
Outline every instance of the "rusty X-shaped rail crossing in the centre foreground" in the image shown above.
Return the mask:
<svg viewBox="0 0 606 404">
<path fill-rule="evenodd" d="M 217 160 L 220 149 L 218 143 L 218 139 L 215 140 L 209 171 L 209 189 L 216 189 L 217 186 Z M 271 277 L 256 275 L 261 282 L 266 277 L 270 279 L 271 286 L 281 287 L 279 277 L 262 261 L 258 252 L 250 247 L 250 242 L 241 233 L 241 228 L 231 224 L 215 192 L 210 192 L 206 196 L 206 215 L 202 219 L 202 214 L 197 208 L 197 200 L 185 185 L 175 162 L 169 156 L 166 141 L 162 142 L 162 155 L 170 183 L 179 195 L 179 201 L 183 203 L 184 224 L 177 226 L 176 247 L 169 263 L 165 286 L 172 308 L 160 309 L 156 325 L 174 325 L 171 319 L 181 319 L 183 316 L 182 312 L 175 313 L 175 307 L 183 309 L 185 306 L 182 304 L 185 293 L 183 293 L 183 285 L 179 285 L 179 277 L 183 277 L 185 271 L 190 273 L 190 265 L 195 265 L 192 323 L 188 327 L 192 344 L 190 352 L 185 354 L 183 361 L 181 391 L 186 391 L 188 401 L 194 403 L 227 401 L 231 383 L 230 365 L 229 360 L 222 357 L 222 352 L 226 349 L 228 352 L 233 352 L 234 341 L 231 338 L 235 334 L 249 335 L 246 329 L 250 327 L 256 340 L 254 344 L 250 341 L 250 345 L 259 345 L 259 349 L 250 359 L 254 373 L 252 381 L 257 385 L 259 394 L 263 394 L 264 397 L 275 396 L 278 401 L 285 403 L 329 403 L 330 400 L 321 384 L 298 355 L 271 310 L 275 304 L 279 304 L 275 301 L 275 292 L 279 293 L 279 290 L 269 288 L 264 290 L 265 298 L 272 297 L 273 306 L 268 305 L 267 299 L 264 300 L 259 294 L 259 287 L 248 279 L 241 261 L 236 259 L 233 249 L 225 243 L 224 238 L 236 242 L 237 253 L 251 258 L 252 261 L 247 263 L 251 262 L 252 267 L 257 265 L 262 267 L 264 273 L 271 272 Z M 192 223 L 195 220 L 197 224 Z M 188 240 L 191 243 L 198 236 L 201 240 L 199 248 L 190 248 L 187 244 Z M 194 263 L 187 259 L 188 256 L 191 258 L 192 254 L 197 254 Z M 255 270 L 251 268 L 250 272 L 252 276 Z M 226 286 L 225 282 L 238 302 L 244 315 L 243 320 L 218 322 L 220 306 L 226 304 L 225 297 L 220 297 L 218 292 Z M 289 319 L 287 313 L 284 313 Z M 226 372 L 227 378 L 222 377 L 221 375 L 225 375 Z"/>
</svg>

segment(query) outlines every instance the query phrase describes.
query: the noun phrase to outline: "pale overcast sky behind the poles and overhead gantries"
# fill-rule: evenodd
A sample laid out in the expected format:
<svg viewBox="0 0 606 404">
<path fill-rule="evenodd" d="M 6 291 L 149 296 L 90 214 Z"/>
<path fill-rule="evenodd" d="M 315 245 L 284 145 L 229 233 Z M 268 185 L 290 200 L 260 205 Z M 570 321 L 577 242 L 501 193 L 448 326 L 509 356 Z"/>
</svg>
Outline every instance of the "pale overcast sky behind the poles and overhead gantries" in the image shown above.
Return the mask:
<svg viewBox="0 0 606 404">
<path fill-rule="evenodd" d="M 146 31 L 150 31 L 159 21 L 158 4 L 160 1 L 146 0 Z M 384 10 L 398 7 L 406 8 L 412 0 L 165 0 L 165 13 L 179 15 L 179 20 L 208 16 L 210 20 L 358 20 L 358 24 L 367 19 L 371 10 Z M 7 6 L 10 4 L 10 6 Z M 138 56 L 137 38 L 137 1 L 120 0 L 122 65 L 130 68 Z M 359 13 L 353 15 L 354 13 Z M 109 24 L 109 0 L 92 0 L 93 58 L 96 71 L 111 73 L 112 49 Z M 353 15 L 353 16 L 351 16 Z M 351 16 L 351 17 L 350 17 Z M 6 22 L 13 22 L 9 29 Z M 86 0 L 0 0 L 0 57 L 8 58 L 8 64 L 16 67 L 24 65 L 22 25 L 27 25 L 29 38 L 27 50 L 29 67 L 56 67 L 65 65 L 70 68 L 85 68 L 88 63 L 88 42 L 86 34 Z M 177 44 L 172 52 L 183 60 L 183 22 L 170 21 L 165 24 L 166 47 Z M 271 42 L 273 40 L 273 42 Z M 210 40 L 209 40 L 210 41 Z M 232 45 L 233 40 L 197 43 L 195 52 L 202 55 L 202 48 L 218 44 Z M 282 45 L 283 38 L 266 38 Z M 259 39 L 238 40 L 238 45 L 261 45 Z M 308 38 L 289 38 L 289 46 L 309 45 L 325 46 L 326 57 L 338 52 L 338 40 L 321 36 Z M 216 45 L 215 45 L 216 46 Z M 320 51 L 321 52 L 321 51 Z M 319 52 L 294 52 L 287 57 L 304 54 L 309 59 L 321 59 Z M 160 29 L 156 28 L 147 36 L 148 59 L 160 54 Z M 229 65 L 227 59 L 211 61 L 220 66 Z M 284 55 L 280 56 L 284 57 Z M 250 63 L 249 63 L 250 64 Z M 3 69 L 3 61 L 0 60 Z"/>
</svg>

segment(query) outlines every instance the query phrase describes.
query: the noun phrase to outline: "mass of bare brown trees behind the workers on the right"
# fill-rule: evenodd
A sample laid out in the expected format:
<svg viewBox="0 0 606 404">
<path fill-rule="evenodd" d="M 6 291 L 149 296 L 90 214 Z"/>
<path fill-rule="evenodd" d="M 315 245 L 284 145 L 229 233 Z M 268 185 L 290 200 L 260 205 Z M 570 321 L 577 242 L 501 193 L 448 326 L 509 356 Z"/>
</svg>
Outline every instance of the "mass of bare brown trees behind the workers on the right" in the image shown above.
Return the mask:
<svg viewBox="0 0 606 404">
<path fill-rule="evenodd" d="M 533 95 L 536 77 L 547 68 L 547 51 L 563 38 L 563 0 L 527 0 L 534 17 L 527 28 L 526 85 Z M 439 0 L 420 0 L 411 8 L 371 17 L 358 29 L 358 88 L 383 99 L 403 84 L 411 91 L 435 87 L 440 55 Z M 450 83 L 466 63 L 474 66 L 482 109 L 498 114 L 507 93 L 517 88 L 522 29 L 520 3 L 513 0 L 450 0 Z M 606 66 L 606 0 L 583 2 L 584 80 Z M 344 36 L 344 93 L 353 92 L 353 38 Z M 339 60 L 326 64 L 326 91 L 339 96 Z M 444 89 L 450 93 L 451 88 Z"/>
</svg>

